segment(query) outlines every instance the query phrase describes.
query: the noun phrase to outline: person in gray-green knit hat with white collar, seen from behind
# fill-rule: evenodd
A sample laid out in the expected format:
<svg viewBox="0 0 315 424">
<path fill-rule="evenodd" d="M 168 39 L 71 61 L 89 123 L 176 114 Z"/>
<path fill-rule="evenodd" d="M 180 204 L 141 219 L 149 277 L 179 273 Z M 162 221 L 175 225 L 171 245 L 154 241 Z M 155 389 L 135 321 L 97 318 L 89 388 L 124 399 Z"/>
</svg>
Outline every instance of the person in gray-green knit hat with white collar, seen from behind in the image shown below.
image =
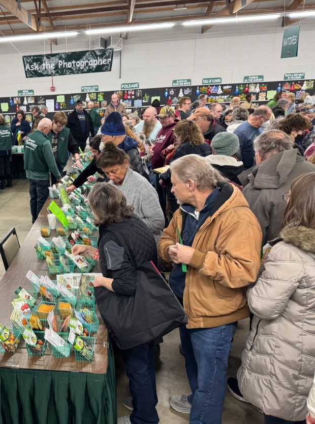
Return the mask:
<svg viewBox="0 0 315 424">
<path fill-rule="evenodd" d="M 212 154 L 207 160 L 223 176 L 240 184 L 237 176 L 244 171 L 243 162 L 239 161 L 239 140 L 232 133 L 218 133 L 211 142 Z"/>
</svg>

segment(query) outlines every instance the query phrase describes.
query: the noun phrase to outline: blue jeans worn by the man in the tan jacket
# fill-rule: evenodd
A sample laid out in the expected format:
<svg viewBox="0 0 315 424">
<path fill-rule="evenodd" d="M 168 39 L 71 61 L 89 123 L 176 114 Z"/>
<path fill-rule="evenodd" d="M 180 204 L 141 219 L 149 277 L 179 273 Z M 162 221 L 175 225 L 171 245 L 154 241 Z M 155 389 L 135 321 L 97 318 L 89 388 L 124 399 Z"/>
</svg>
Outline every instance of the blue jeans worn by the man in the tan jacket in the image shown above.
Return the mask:
<svg viewBox="0 0 315 424">
<path fill-rule="evenodd" d="M 214 328 L 179 327 L 192 394 L 190 424 L 221 424 L 229 352 L 237 323 Z"/>
</svg>

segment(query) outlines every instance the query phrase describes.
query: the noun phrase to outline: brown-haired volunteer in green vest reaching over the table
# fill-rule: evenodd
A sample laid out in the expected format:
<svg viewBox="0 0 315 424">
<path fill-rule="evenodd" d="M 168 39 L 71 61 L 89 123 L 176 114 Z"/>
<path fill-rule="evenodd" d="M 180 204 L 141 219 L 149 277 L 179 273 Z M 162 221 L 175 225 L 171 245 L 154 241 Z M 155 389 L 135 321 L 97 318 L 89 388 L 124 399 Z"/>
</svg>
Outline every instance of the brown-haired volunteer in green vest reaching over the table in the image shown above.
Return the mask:
<svg viewBox="0 0 315 424">
<path fill-rule="evenodd" d="M 67 116 L 65 112 L 56 112 L 52 120 L 52 130 L 48 134 L 51 143 L 52 152 L 56 161 L 57 168 L 62 175 L 67 165 L 69 153 L 76 158 L 75 164 L 82 169 L 80 162 L 80 151 L 70 129 L 66 128 Z M 56 183 L 56 177 L 51 174 L 51 185 Z"/>
</svg>

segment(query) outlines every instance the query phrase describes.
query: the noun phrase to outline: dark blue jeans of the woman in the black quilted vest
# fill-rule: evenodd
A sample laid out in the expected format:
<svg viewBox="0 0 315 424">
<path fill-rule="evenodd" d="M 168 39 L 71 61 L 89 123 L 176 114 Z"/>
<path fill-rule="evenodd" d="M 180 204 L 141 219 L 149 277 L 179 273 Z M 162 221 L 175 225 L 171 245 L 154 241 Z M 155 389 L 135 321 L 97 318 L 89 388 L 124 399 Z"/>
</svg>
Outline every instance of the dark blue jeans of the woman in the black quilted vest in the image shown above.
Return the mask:
<svg viewBox="0 0 315 424">
<path fill-rule="evenodd" d="M 134 410 L 130 416 L 132 424 L 157 424 L 159 416 L 155 409 L 157 394 L 153 342 L 121 350 L 121 356 L 133 398 Z"/>
</svg>

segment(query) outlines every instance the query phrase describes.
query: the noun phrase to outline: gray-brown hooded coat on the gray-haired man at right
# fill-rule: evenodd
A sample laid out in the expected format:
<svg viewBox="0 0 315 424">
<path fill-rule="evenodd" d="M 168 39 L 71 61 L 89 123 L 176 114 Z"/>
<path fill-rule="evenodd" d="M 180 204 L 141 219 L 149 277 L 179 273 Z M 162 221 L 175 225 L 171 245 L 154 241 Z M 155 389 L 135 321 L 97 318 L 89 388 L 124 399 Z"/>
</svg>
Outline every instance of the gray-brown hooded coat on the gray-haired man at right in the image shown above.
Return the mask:
<svg viewBox="0 0 315 424">
<path fill-rule="evenodd" d="M 289 192 L 292 181 L 307 172 L 315 172 L 315 165 L 306 162 L 298 149 L 292 149 L 276 153 L 238 175 L 242 193 L 262 227 L 263 245 L 279 235 L 287 205 L 282 193 Z"/>
</svg>

